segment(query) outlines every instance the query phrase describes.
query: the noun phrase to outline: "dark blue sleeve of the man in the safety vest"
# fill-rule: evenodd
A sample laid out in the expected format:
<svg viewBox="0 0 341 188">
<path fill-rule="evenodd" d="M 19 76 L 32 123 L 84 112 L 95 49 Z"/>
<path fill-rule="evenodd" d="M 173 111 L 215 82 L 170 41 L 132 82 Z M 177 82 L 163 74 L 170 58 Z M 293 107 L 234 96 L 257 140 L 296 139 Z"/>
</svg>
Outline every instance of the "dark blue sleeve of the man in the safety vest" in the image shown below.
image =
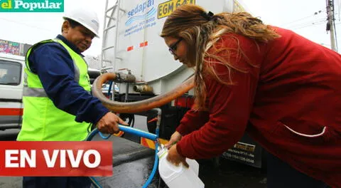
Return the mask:
<svg viewBox="0 0 341 188">
<path fill-rule="evenodd" d="M 75 81 L 72 58 L 59 43 L 38 46 L 28 61 L 31 71 L 40 78 L 48 98 L 60 110 L 75 115 L 75 121 L 96 124 L 109 112 Z"/>
</svg>

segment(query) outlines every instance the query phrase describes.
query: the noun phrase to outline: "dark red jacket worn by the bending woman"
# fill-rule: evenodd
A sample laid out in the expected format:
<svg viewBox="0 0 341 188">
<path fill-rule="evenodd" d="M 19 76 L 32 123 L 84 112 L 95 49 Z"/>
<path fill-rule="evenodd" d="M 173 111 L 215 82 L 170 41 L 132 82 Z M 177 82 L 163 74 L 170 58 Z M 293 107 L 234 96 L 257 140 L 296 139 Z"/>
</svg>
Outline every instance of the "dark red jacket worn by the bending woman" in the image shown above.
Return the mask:
<svg viewBox="0 0 341 188">
<path fill-rule="evenodd" d="M 189 158 L 214 157 L 246 131 L 292 167 L 341 187 L 341 56 L 273 28 L 281 38 L 269 43 L 226 34 L 215 44 L 217 49 L 239 46 L 245 56 L 230 51 L 228 60 L 247 72 L 211 60 L 220 78 L 231 75 L 234 84 L 205 73 L 208 111 L 185 114 L 177 128 L 185 135 L 177 150 Z"/>
</svg>

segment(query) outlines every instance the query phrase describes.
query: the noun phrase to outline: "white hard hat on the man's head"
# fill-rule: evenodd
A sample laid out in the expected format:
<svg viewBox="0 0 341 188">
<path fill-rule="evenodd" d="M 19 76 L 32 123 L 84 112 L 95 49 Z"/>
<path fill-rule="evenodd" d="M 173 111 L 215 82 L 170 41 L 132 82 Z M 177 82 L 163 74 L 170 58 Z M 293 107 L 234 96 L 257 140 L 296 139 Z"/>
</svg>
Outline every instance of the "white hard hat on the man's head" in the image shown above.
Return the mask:
<svg viewBox="0 0 341 188">
<path fill-rule="evenodd" d="M 96 12 L 89 9 L 73 9 L 71 11 L 67 11 L 65 16 L 63 16 L 63 19 L 72 19 L 73 21 L 77 21 L 99 37 L 99 21 Z"/>
</svg>

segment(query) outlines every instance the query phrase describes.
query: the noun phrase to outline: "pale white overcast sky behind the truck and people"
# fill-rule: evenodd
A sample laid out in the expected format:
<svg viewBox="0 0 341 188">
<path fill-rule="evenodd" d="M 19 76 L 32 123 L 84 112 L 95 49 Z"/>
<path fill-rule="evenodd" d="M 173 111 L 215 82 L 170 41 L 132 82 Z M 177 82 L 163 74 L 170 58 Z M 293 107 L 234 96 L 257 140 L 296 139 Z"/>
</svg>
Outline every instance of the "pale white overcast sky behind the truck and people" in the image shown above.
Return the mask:
<svg viewBox="0 0 341 188">
<path fill-rule="evenodd" d="M 335 0 L 335 23 L 337 44 L 341 49 L 341 19 L 337 11 L 337 4 L 340 4 L 340 1 Z M 64 0 L 64 2 L 65 11 L 80 4 L 96 11 L 99 21 L 102 23 L 99 28 L 99 35 L 102 36 L 105 0 Z M 264 23 L 291 29 L 315 43 L 330 48 L 330 34 L 325 31 L 327 17 L 325 0 L 244 0 L 244 4 L 247 5 L 251 14 L 258 16 Z M 63 23 L 62 16 L 63 13 L 0 12 L 0 39 L 34 44 L 38 41 L 55 38 L 60 33 Z M 83 54 L 98 56 L 101 53 L 101 46 L 102 38 L 94 38 L 91 48 Z"/>
</svg>

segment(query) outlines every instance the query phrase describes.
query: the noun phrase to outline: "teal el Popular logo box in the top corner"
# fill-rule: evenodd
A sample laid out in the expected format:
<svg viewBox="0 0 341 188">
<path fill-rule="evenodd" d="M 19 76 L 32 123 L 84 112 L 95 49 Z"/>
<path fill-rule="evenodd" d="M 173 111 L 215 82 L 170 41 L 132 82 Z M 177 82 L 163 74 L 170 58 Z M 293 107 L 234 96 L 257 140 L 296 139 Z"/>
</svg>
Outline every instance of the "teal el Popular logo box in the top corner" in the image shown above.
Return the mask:
<svg viewBox="0 0 341 188">
<path fill-rule="evenodd" d="M 64 0 L 0 0 L 0 12 L 63 12 Z"/>
</svg>

